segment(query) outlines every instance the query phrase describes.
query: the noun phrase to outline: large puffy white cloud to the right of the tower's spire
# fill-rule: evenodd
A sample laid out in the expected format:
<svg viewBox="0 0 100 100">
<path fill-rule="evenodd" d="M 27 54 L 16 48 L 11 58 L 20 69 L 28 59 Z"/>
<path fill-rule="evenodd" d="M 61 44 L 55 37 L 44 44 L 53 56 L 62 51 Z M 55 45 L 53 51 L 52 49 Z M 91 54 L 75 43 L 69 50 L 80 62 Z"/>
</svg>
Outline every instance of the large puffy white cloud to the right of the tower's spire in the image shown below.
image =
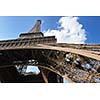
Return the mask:
<svg viewBox="0 0 100 100">
<path fill-rule="evenodd" d="M 55 35 L 58 43 L 85 43 L 86 31 L 78 19 L 78 17 L 61 17 L 58 29 L 45 31 L 44 35 Z"/>
</svg>

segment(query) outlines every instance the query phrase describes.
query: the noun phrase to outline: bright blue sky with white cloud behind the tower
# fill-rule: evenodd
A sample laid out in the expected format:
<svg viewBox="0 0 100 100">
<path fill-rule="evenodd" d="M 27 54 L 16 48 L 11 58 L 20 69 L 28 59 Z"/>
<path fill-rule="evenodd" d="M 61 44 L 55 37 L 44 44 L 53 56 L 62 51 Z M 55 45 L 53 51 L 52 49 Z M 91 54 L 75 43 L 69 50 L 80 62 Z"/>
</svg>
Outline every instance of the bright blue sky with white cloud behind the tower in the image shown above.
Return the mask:
<svg viewBox="0 0 100 100">
<path fill-rule="evenodd" d="M 42 32 L 46 33 L 46 35 L 57 35 L 59 41 L 62 41 L 59 37 L 61 37 L 63 31 L 66 31 L 65 34 L 67 34 L 63 34 L 62 36 L 62 39 L 65 40 L 64 42 L 73 41 L 74 36 L 76 39 L 80 39 L 80 36 L 74 35 L 74 33 L 67 32 L 68 30 L 71 31 L 73 30 L 73 28 L 78 27 L 82 40 L 73 42 L 100 43 L 99 16 L 79 16 L 76 18 L 68 18 L 63 16 L 0 16 L 0 40 L 17 38 L 20 33 L 28 32 L 28 30 L 30 30 L 37 19 L 42 20 Z M 73 19 L 74 21 L 72 21 Z M 69 25 L 67 25 L 66 23 L 69 23 Z M 82 25 L 82 27 L 80 25 Z M 67 27 L 69 27 L 69 29 L 67 29 Z M 57 32 L 59 34 L 57 34 Z M 83 35 L 81 34 L 81 32 L 83 32 Z M 76 33 L 78 34 L 78 31 Z M 70 37 L 68 36 L 68 34 Z"/>
</svg>

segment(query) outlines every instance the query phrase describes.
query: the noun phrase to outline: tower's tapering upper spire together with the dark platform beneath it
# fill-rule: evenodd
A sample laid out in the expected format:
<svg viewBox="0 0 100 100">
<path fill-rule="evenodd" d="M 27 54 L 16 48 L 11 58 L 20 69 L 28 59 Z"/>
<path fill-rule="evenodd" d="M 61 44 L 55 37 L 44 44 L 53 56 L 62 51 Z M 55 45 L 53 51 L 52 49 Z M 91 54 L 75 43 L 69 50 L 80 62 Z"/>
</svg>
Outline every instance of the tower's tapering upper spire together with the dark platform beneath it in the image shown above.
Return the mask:
<svg viewBox="0 0 100 100">
<path fill-rule="evenodd" d="M 28 31 L 28 33 L 20 34 L 20 38 L 36 38 L 43 37 L 43 33 L 41 32 L 41 20 L 37 20 L 35 25 Z"/>
</svg>

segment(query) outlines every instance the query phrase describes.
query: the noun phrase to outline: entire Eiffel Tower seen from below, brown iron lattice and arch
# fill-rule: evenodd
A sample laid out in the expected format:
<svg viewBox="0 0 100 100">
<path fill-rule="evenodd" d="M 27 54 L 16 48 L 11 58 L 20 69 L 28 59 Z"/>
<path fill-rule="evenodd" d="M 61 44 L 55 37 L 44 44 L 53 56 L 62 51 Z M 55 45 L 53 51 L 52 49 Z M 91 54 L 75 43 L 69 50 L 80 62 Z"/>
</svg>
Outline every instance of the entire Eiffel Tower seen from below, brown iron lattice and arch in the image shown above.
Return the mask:
<svg viewBox="0 0 100 100">
<path fill-rule="evenodd" d="M 39 73 L 27 72 L 37 66 Z M 57 43 L 44 36 L 41 20 L 17 39 L 0 41 L 0 82 L 100 82 L 100 45 Z"/>
</svg>

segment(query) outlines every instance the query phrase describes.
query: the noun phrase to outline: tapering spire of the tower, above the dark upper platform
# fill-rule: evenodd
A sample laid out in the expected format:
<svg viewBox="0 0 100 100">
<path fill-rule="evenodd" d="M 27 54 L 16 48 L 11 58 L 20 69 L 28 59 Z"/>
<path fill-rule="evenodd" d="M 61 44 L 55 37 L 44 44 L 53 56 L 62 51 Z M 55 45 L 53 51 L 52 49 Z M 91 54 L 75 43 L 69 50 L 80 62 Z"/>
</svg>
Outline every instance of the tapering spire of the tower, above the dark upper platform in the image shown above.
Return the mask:
<svg viewBox="0 0 100 100">
<path fill-rule="evenodd" d="M 36 24 L 29 30 L 28 33 L 41 32 L 41 20 L 37 20 Z"/>
</svg>

